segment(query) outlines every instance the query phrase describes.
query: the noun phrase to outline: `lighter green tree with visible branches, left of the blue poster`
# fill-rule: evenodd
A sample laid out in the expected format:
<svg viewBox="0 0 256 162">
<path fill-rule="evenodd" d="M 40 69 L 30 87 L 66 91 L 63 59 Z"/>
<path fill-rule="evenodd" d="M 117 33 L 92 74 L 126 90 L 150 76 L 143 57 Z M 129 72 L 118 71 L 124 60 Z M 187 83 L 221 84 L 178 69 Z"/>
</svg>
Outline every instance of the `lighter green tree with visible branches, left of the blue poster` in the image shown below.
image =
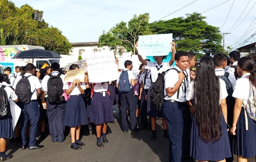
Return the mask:
<svg viewBox="0 0 256 162">
<path fill-rule="evenodd" d="M 125 47 L 128 52 L 135 53 L 135 44 L 140 35 L 152 34 L 149 25 L 149 14 L 134 15 L 128 23 L 121 21 L 108 32 L 103 31 L 99 37 L 99 47 L 108 46 L 117 51 L 118 47 Z"/>
</svg>

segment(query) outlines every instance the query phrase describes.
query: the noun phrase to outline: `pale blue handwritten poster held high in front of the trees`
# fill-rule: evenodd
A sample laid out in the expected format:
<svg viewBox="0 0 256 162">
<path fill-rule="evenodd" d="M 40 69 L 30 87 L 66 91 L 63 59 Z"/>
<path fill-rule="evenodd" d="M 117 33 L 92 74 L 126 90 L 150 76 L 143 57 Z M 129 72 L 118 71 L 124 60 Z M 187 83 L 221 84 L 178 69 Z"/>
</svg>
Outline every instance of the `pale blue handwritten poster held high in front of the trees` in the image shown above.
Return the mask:
<svg viewBox="0 0 256 162">
<path fill-rule="evenodd" d="M 168 55 L 171 50 L 172 34 L 139 36 L 138 52 L 146 56 Z"/>
</svg>

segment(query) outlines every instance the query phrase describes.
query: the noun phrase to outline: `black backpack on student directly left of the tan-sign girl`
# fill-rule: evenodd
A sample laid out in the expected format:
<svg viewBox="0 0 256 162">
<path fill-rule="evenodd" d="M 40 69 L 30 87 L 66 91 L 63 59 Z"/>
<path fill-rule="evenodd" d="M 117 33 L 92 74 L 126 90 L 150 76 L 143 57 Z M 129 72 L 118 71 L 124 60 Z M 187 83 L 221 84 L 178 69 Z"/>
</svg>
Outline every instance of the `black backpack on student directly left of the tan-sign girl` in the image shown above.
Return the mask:
<svg viewBox="0 0 256 162">
<path fill-rule="evenodd" d="M 61 79 L 61 73 L 54 76 L 49 74 L 47 82 L 47 100 L 51 103 L 60 103 L 65 100 L 63 96 L 63 81 Z"/>
</svg>

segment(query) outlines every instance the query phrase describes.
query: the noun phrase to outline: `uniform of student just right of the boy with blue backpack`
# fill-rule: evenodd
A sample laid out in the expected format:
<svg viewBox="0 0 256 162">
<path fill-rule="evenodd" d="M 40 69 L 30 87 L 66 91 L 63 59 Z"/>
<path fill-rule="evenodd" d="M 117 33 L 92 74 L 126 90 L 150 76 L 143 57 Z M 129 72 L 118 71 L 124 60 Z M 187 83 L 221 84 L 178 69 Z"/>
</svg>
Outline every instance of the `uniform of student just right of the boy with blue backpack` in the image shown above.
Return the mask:
<svg viewBox="0 0 256 162">
<path fill-rule="evenodd" d="M 152 83 L 151 71 L 146 69 L 141 73 L 140 83 L 143 81 L 143 89 L 141 92 L 141 125 L 144 128 L 148 127 L 148 115 L 147 115 L 147 100 L 145 96 L 148 94 L 148 89 Z"/>
</svg>

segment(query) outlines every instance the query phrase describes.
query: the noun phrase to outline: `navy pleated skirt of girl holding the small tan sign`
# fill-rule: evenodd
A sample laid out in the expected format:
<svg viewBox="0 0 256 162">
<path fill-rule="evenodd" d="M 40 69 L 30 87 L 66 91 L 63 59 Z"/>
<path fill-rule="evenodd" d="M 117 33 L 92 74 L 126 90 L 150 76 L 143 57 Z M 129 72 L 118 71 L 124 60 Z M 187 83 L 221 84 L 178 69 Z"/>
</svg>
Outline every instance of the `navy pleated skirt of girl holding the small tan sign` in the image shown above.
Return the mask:
<svg viewBox="0 0 256 162">
<path fill-rule="evenodd" d="M 70 95 L 66 104 L 65 126 L 78 127 L 87 125 L 87 112 L 82 96 Z"/>
</svg>

